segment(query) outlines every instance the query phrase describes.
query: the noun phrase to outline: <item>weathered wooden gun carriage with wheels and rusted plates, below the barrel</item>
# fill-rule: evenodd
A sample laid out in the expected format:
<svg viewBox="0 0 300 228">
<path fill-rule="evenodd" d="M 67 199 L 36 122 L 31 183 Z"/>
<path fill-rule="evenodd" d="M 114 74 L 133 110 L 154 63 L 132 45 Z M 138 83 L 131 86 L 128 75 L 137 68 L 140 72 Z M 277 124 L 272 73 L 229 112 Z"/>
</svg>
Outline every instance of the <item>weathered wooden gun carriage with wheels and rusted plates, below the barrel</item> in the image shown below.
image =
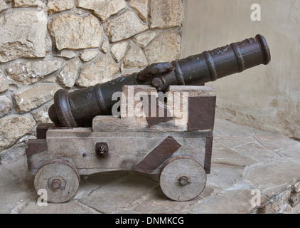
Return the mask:
<svg viewBox="0 0 300 228">
<path fill-rule="evenodd" d="M 38 125 L 37 139 L 28 140 L 26 149 L 36 191 L 46 190 L 48 202 L 66 202 L 76 195 L 80 175 L 134 170 L 159 175 L 161 190 L 170 199 L 188 201 L 200 195 L 210 173 L 215 90 L 170 86 L 167 100 L 173 102 L 149 102 L 147 108 L 145 95 L 149 100 L 158 97 L 151 86 L 124 86 L 121 116 L 96 116 L 92 128 Z M 159 107 L 163 116 L 154 115 Z M 130 116 L 132 110 L 141 115 Z"/>
</svg>

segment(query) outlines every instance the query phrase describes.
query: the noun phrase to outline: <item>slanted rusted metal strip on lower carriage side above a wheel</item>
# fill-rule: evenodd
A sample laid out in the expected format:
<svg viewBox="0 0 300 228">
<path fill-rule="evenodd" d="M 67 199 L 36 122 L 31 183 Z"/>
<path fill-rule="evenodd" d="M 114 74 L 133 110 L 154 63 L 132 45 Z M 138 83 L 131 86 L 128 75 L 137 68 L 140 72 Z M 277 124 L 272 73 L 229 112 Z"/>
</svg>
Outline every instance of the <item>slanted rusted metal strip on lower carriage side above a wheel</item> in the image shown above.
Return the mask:
<svg viewBox="0 0 300 228">
<path fill-rule="evenodd" d="M 168 136 L 163 142 L 149 152 L 143 160 L 141 160 L 135 167 L 134 171 L 145 172 L 151 174 L 157 167 L 164 163 L 169 157 L 173 155 L 176 150 L 181 147 L 172 136 Z"/>
</svg>

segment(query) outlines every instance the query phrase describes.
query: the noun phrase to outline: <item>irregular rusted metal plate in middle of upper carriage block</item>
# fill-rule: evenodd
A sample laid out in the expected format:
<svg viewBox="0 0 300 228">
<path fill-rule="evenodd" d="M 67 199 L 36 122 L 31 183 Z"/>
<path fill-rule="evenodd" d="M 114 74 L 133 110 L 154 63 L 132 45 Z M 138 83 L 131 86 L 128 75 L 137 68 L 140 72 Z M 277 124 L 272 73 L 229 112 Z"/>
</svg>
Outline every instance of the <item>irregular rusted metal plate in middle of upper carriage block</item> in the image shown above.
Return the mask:
<svg viewBox="0 0 300 228">
<path fill-rule="evenodd" d="M 151 98 L 151 95 L 148 95 L 148 100 L 149 100 L 149 103 L 147 104 L 148 110 L 145 110 L 145 112 L 146 112 L 146 120 L 150 127 L 173 119 L 171 117 L 171 113 L 168 110 L 168 108 L 163 106 L 162 104 L 160 104 L 159 100 L 156 100 L 155 97 Z M 153 100 L 155 100 L 155 103 L 153 102 Z M 147 105 L 146 105 L 146 107 L 147 107 Z M 143 107 L 145 107 L 144 103 L 143 103 Z M 159 113 L 159 110 L 164 110 L 163 116 L 159 115 L 159 114 L 161 114 L 161 113 Z M 151 116 L 154 113 L 155 113 L 155 115 Z"/>
</svg>

